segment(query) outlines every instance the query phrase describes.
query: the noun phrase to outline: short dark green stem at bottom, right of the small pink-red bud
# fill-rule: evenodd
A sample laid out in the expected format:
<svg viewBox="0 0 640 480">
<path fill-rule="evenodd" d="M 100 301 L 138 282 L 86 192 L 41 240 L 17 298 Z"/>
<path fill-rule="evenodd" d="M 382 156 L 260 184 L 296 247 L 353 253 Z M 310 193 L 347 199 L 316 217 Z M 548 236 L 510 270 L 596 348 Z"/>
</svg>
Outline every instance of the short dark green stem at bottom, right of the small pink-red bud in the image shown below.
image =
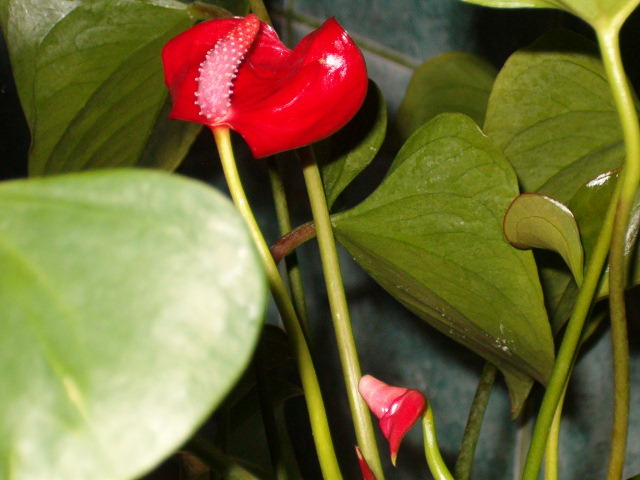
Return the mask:
<svg viewBox="0 0 640 480">
<path fill-rule="evenodd" d="M 467 425 L 464 428 L 464 433 L 462 435 L 462 445 L 460 446 L 460 453 L 458 454 L 454 470 L 456 480 L 469 480 L 471 477 L 473 456 L 476 451 L 476 445 L 478 444 L 480 428 L 482 427 L 482 419 L 484 418 L 484 413 L 487 410 L 487 404 L 489 403 L 489 397 L 491 396 L 491 389 L 493 388 L 493 382 L 496 378 L 496 372 L 497 369 L 493 364 L 485 362 L 482 374 L 480 375 L 480 381 L 478 382 L 478 388 L 476 389 L 476 394 L 473 397 L 473 403 L 471 404 Z"/>
</svg>

